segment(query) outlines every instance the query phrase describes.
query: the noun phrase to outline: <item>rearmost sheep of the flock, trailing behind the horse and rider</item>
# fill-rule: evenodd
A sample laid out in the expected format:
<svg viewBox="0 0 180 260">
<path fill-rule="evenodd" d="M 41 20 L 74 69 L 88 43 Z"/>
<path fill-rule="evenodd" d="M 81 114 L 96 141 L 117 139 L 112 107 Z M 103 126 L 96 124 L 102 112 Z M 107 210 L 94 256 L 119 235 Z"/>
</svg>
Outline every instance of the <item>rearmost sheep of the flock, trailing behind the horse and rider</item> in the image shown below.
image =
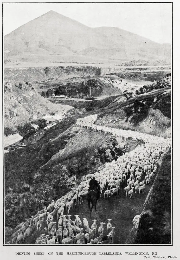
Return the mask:
<svg viewBox="0 0 180 260">
<path fill-rule="evenodd" d="M 63 204 L 62 204 L 63 205 Z M 108 219 L 107 235 L 105 235 L 104 225 L 100 222 L 97 232 L 96 219 L 92 220 L 91 229 L 86 218 L 81 219 L 75 215 L 75 221 L 72 221 L 71 215 L 62 215 L 57 218 L 58 222 L 53 219 L 58 215 L 58 207 L 55 206 L 54 200 L 49 206 L 38 212 L 30 219 L 26 219 L 25 223 L 12 235 L 12 244 L 21 244 L 31 236 L 35 229 L 40 234 L 35 244 L 112 244 L 114 243 L 114 229 L 111 219 Z"/>
</svg>

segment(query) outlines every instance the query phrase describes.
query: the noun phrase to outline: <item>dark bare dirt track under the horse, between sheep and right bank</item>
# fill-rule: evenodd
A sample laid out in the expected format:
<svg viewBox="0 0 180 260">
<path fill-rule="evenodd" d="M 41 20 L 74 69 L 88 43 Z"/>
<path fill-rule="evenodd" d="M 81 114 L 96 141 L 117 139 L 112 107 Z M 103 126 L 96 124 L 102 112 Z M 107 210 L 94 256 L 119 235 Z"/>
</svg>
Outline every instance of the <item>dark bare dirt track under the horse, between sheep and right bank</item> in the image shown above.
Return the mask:
<svg viewBox="0 0 180 260">
<path fill-rule="evenodd" d="M 132 220 L 135 215 L 139 215 L 143 210 L 143 204 L 145 202 L 146 196 L 150 190 L 150 186 L 146 187 L 145 193 L 134 194 L 132 199 L 126 198 L 124 194 L 124 187 L 121 187 L 119 196 L 113 196 L 112 198 L 103 200 L 104 195 L 97 203 L 97 211 L 92 211 L 92 215 L 89 214 L 89 209 L 87 205 L 87 200 L 83 201 L 81 205 L 76 205 L 73 210 L 70 211 L 72 215 L 72 220 L 75 220 L 74 215 L 78 214 L 81 221 L 83 217 L 86 217 L 91 228 L 92 220 L 97 220 L 97 227 L 99 228 L 99 222 L 107 223 L 108 218 L 112 218 L 112 225 L 115 226 L 115 244 L 125 244 L 126 238 L 130 233 L 133 224 Z M 65 211 L 64 214 L 67 214 Z M 53 221 L 56 221 L 55 218 Z M 57 228 L 57 226 L 56 226 Z M 98 236 L 98 228 L 97 234 Z M 43 229 L 40 232 L 37 232 L 37 229 L 34 228 L 33 235 L 31 235 L 27 240 L 24 241 L 24 244 L 35 244 L 38 236 L 43 233 Z M 106 225 L 104 235 L 107 235 Z"/>
</svg>

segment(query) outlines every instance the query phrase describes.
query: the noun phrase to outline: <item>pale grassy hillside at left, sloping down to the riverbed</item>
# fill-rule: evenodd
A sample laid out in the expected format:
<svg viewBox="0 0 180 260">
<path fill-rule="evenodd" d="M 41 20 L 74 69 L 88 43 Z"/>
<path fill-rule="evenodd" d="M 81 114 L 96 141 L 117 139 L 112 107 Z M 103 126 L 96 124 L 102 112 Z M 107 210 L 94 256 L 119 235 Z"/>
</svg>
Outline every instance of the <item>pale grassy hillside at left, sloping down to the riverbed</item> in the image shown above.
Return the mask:
<svg viewBox="0 0 180 260">
<path fill-rule="evenodd" d="M 23 127 L 36 128 L 38 120 L 48 115 L 62 118 L 71 106 L 56 105 L 42 97 L 29 83 L 5 83 L 4 87 L 4 130 L 5 135 L 20 133 Z M 34 127 L 30 122 L 34 122 Z M 46 120 L 44 120 L 46 122 Z M 25 129 L 24 129 L 25 130 Z"/>
</svg>

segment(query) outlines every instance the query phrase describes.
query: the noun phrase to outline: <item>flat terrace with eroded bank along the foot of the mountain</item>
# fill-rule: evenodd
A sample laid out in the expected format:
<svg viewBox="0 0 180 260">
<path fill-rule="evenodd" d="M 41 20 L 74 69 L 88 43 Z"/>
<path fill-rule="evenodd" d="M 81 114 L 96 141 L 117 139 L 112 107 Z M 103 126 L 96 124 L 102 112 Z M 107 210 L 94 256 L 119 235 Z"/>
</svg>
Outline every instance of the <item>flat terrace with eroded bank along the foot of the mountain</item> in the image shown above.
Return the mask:
<svg viewBox="0 0 180 260">
<path fill-rule="evenodd" d="M 149 80 L 153 81 L 163 77 L 165 71 L 171 72 L 170 66 L 137 66 L 137 67 L 125 67 L 125 66 L 95 66 L 95 65 L 79 65 L 79 64 L 69 64 L 66 66 L 62 64 L 52 65 L 53 63 L 48 63 L 48 66 L 37 66 L 33 64 L 34 67 L 18 67 L 12 66 L 4 68 L 4 81 L 40 81 L 46 82 L 49 80 L 59 79 L 61 81 L 73 80 L 75 77 L 98 77 L 106 74 L 112 74 L 119 76 L 124 79 L 130 80 Z M 51 66 L 50 66 L 51 65 Z M 32 66 L 32 65 L 31 65 Z"/>
</svg>

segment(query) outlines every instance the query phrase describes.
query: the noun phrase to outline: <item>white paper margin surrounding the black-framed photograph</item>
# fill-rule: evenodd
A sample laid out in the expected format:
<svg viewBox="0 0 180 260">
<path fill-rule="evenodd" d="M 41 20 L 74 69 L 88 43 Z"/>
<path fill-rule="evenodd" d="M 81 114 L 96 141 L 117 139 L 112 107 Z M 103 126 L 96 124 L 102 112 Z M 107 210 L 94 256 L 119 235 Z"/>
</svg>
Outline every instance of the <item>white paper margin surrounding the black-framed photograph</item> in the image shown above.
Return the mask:
<svg viewBox="0 0 180 260">
<path fill-rule="evenodd" d="M 10 2 L 10 1 L 6 1 L 6 2 Z M 28 2 L 28 1 L 24 1 L 24 2 Z M 34 1 L 34 2 L 38 2 L 38 1 Z M 47 1 L 48 2 L 48 1 Z M 54 1 L 56 2 L 56 1 Z M 71 1 L 72 3 L 75 1 Z M 87 2 L 87 1 L 86 1 Z M 99 1 L 99 3 L 101 3 L 102 1 Z M 118 1 L 115 1 L 118 3 Z M 123 2 L 128 2 L 128 1 L 123 1 Z M 131 1 L 134 2 L 134 1 Z M 143 2 L 153 2 L 153 1 L 143 1 Z M 161 2 L 161 1 L 156 1 L 156 2 Z M 169 2 L 169 1 L 162 1 L 162 2 Z M 98 252 L 122 252 L 122 256 L 114 256 L 114 257 L 121 257 L 122 259 L 132 259 L 132 255 L 126 256 L 124 252 L 149 252 L 149 254 L 151 254 L 151 252 L 158 252 L 158 255 L 162 255 L 162 256 L 177 256 L 177 259 L 179 259 L 179 174 L 180 174 L 180 169 L 179 169 L 179 155 L 178 155 L 178 148 L 180 147 L 179 144 L 179 136 L 178 134 L 178 130 L 180 130 L 180 125 L 179 125 L 179 67 L 176 66 L 176 64 L 178 64 L 178 61 L 180 59 L 180 55 L 179 55 L 179 10 L 180 10 L 180 4 L 179 1 L 172 1 L 173 2 L 173 197 L 172 197 L 172 201 L 173 201 L 173 218 L 172 218 L 172 222 L 173 222 L 173 246 L 171 245 L 144 245 L 140 246 L 140 245 L 131 245 L 131 246 L 123 246 L 123 245 L 109 245 L 110 248 L 108 247 L 108 249 L 106 249 L 106 247 L 104 246 L 61 246 L 60 247 L 56 247 L 56 249 L 53 248 L 52 245 L 47 246 L 40 246 L 40 248 L 38 247 L 34 247 L 34 246 L 21 246 L 18 245 L 17 246 L 2 246 L 2 236 L 1 236 L 1 257 L 5 257 L 5 259 L 14 259 L 15 257 L 17 257 L 15 255 L 15 252 L 45 252 L 44 256 L 34 256 L 34 259 L 39 259 L 41 257 L 41 259 L 52 259 L 52 256 L 48 255 L 48 252 L 97 252 L 97 255 L 95 256 L 86 256 L 86 257 L 99 257 Z M 2 2 L 1 2 L 2 3 Z M 57 2 L 58 3 L 58 2 Z M 1 6 L 2 8 L 2 6 Z M 13 21 L 12 21 L 13 22 Z M 2 44 L 2 43 L 1 43 Z M 1 65 L 2 66 L 2 65 Z M 3 84 L 2 84 L 3 86 Z M 2 93 L 1 93 L 2 95 Z M 2 107 L 2 98 L 1 100 L 1 107 Z M 2 110 L 1 110 L 2 113 Z M 2 118 L 2 114 L 1 114 L 1 118 Z M 2 129 L 1 129 L 2 131 Z M 1 135 L 2 136 L 2 135 Z M 2 165 L 2 164 L 1 164 Z M 2 170 L 2 168 L 1 168 Z M 1 171 L 2 172 L 2 171 Z M 2 200 L 1 200 L 1 205 L 2 205 Z M 2 223 L 2 214 L 1 214 L 1 223 Z M 2 234 L 2 233 L 1 233 Z M 18 257 L 22 257 L 22 256 L 18 256 Z M 25 258 L 31 258 L 32 255 L 30 256 L 25 256 Z M 53 254 L 53 259 L 54 257 L 59 257 L 56 256 L 55 254 Z M 62 257 L 62 256 L 61 256 Z M 69 256 L 64 255 L 63 257 L 66 257 L 67 259 L 69 258 Z M 70 259 L 72 259 L 72 257 L 83 257 L 83 256 L 70 256 Z M 102 256 L 103 259 L 104 258 L 109 258 L 110 256 Z M 136 259 L 143 259 L 142 256 L 139 255 L 133 255 L 133 258 Z M 23 256 L 24 259 L 24 256 Z M 153 258 L 152 258 L 153 259 Z M 168 258 L 167 258 L 168 259 Z"/>
</svg>

